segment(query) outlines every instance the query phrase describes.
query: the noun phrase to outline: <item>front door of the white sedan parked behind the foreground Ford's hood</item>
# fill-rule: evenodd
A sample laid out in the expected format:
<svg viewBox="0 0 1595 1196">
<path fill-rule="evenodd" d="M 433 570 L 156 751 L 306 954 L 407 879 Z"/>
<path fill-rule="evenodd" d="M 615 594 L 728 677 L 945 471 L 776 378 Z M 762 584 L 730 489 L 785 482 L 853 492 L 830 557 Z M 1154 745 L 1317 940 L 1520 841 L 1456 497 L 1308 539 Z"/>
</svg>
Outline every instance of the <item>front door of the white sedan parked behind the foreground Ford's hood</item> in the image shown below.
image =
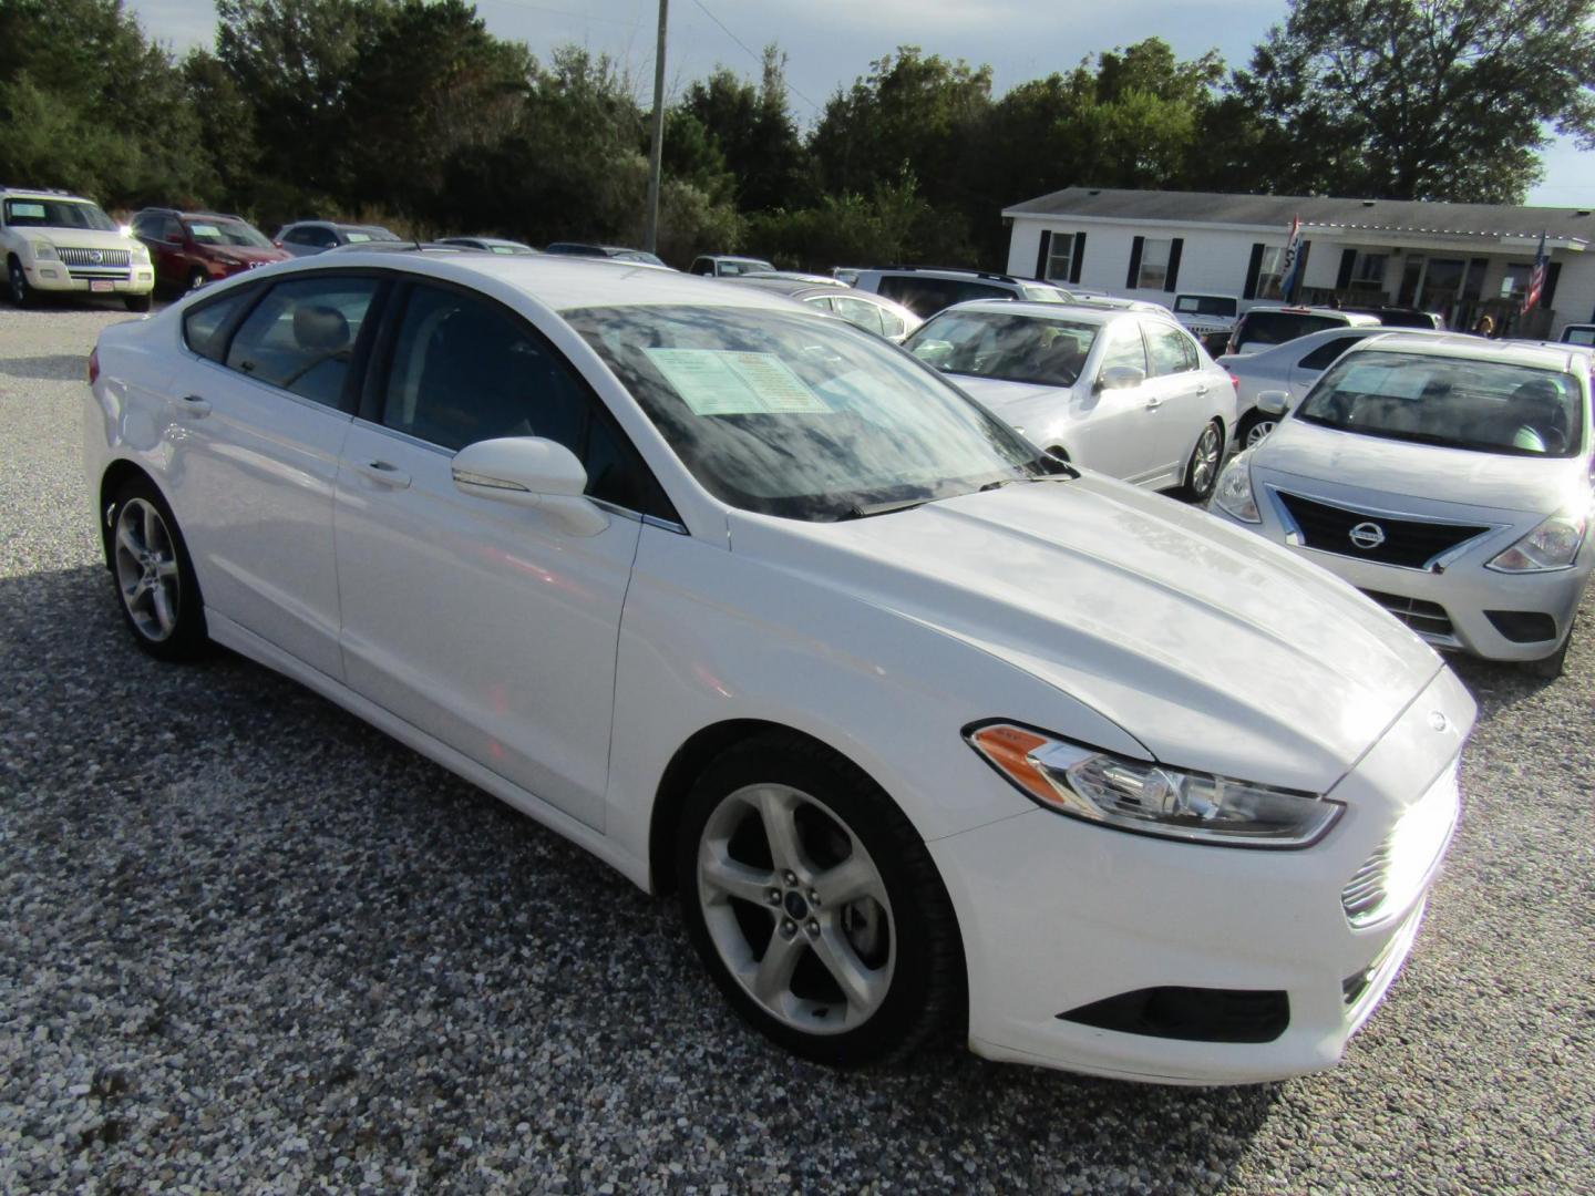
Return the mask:
<svg viewBox="0 0 1595 1196">
<path fill-rule="evenodd" d="M 1147 376 L 1147 346 L 1132 319 L 1109 322 L 1093 346 L 1069 397 L 1069 426 L 1061 432 L 1070 459 L 1126 482 L 1142 482 L 1158 469 L 1150 437 L 1161 399 Z M 1134 386 L 1107 386 L 1115 368 L 1140 372 Z"/>
</svg>

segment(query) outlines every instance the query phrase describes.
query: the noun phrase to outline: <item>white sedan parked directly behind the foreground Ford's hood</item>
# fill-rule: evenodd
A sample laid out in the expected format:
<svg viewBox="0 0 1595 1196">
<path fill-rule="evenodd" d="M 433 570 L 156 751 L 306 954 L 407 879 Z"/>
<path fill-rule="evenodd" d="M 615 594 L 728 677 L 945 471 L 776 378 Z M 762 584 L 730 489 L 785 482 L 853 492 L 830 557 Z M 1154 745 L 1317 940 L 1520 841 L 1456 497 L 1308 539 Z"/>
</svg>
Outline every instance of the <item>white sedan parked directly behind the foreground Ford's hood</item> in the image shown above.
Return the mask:
<svg viewBox="0 0 1595 1196">
<path fill-rule="evenodd" d="M 960 303 L 903 346 L 1053 456 L 1204 502 L 1235 431 L 1227 370 L 1168 309 Z"/>
</svg>

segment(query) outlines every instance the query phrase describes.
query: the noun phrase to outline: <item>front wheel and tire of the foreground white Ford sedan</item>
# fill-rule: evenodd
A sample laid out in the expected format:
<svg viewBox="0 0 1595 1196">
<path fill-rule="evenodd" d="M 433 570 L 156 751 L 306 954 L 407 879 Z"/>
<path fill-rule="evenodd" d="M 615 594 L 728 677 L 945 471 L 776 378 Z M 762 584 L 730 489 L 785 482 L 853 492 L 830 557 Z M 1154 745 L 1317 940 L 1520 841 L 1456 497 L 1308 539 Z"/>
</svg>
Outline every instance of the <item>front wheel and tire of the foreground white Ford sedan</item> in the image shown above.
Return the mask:
<svg viewBox="0 0 1595 1196">
<path fill-rule="evenodd" d="M 952 906 L 925 844 L 820 745 L 770 734 L 716 759 L 683 810 L 676 869 L 705 968 L 794 1054 L 898 1059 L 962 1009 Z"/>
</svg>

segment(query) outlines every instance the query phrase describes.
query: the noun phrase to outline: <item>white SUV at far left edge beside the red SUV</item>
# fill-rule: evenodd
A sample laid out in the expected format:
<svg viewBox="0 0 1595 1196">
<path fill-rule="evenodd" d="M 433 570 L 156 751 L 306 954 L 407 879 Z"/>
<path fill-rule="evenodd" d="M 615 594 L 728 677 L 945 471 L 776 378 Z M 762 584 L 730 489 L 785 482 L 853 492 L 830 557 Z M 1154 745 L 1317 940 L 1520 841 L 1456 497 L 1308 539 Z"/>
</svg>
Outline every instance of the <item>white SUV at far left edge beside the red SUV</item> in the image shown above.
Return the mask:
<svg viewBox="0 0 1595 1196">
<path fill-rule="evenodd" d="M 150 250 L 124 236 L 93 199 L 0 188 L 0 252 L 19 308 L 33 306 L 37 292 L 75 290 L 121 295 L 128 311 L 150 309 Z"/>
</svg>

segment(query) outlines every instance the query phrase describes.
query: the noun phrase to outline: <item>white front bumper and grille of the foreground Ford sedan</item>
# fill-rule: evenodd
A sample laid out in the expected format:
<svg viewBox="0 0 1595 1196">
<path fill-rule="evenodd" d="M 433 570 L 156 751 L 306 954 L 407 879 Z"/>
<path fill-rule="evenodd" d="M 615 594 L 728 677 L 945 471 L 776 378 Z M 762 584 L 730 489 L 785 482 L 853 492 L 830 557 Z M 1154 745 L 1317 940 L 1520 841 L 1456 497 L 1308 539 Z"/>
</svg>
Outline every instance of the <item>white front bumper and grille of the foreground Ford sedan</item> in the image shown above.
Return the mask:
<svg viewBox="0 0 1595 1196">
<path fill-rule="evenodd" d="M 1436 711 L 1445 730 L 1434 729 Z M 970 1048 L 1176 1084 L 1332 1067 L 1412 947 L 1455 828 L 1456 759 L 1472 718 L 1472 698 L 1442 670 L 1335 785 L 1345 813 L 1300 852 L 1179 844 L 1040 808 L 930 844 L 963 934 Z M 1389 898 L 1354 927 L 1343 893 L 1391 842 Z M 1289 1017 L 1268 1041 L 1235 1041 L 1064 1016 L 1126 993 L 1193 989 L 1282 995 Z"/>
</svg>

